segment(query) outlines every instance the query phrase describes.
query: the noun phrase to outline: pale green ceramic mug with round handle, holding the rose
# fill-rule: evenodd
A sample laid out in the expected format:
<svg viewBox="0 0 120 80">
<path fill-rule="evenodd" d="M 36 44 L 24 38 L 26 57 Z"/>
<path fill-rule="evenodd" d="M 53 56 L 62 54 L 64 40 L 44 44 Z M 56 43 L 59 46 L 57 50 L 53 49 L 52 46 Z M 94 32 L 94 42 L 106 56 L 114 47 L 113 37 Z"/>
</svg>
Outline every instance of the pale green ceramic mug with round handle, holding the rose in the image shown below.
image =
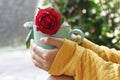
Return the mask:
<svg viewBox="0 0 120 80">
<path fill-rule="evenodd" d="M 34 25 L 33 32 L 34 32 L 35 43 L 38 46 L 41 46 L 45 49 L 52 49 L 52 48 L 54 48 L 54 46 L 45 45 L 45 44 L 40 43 L 40 38 L 43 38 L 43 37 L 50 36 L 50 37 L 55 37 L 55 38 L 63 38 L 63 39 L 66 38 L 66 39 L 74 41 L 74 39 L 71 36 L 72 36 L 72 34 L 77 34 L 77 35 L 81 36 L 80 40 L 77 42 L 78 44 L 80 44 L 82 42 L 82 40 L 84 39 L 84 33 L 80 29 L 73 29 L 72 30 L 70 26 L 61 26 L 56 34 L 47 35 L 47 34 L 43 34 L 42 32 L 37 31 L 36 26 Z"/>
</svg>

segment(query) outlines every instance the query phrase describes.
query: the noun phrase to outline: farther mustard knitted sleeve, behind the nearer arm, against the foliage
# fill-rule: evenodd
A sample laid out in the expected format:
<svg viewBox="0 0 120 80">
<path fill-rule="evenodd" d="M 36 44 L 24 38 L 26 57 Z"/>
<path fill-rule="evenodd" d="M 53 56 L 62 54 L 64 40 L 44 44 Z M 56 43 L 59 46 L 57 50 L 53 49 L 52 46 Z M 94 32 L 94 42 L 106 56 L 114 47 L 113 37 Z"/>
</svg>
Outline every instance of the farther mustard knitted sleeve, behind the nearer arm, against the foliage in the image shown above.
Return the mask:
<svg viewBox="0 0 120 80">
<path fill-rule="evenodd" d="M 101 58 L 106 61 L 120 64 L 120 50 L 110 49 L 105 46 L 99 46 L 87 39 L 84 39 L 82 44 L 83 47 L 88 48 L 98 54 Z"/>
</svg>

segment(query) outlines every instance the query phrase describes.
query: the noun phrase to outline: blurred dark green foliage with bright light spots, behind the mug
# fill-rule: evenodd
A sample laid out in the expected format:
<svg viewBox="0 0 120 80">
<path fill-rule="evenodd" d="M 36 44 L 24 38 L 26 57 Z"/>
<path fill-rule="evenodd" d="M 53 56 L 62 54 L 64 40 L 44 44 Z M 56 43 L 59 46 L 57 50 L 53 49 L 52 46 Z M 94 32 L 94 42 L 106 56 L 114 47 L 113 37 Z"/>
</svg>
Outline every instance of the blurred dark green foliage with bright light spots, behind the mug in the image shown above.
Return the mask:
<svg viewBox="0 0 120 80">
<path fill-rule="evenodd" d="M 120 49 L 120 0 L 50 0 L 72 28 L 99 45 Z"/>
</svg>

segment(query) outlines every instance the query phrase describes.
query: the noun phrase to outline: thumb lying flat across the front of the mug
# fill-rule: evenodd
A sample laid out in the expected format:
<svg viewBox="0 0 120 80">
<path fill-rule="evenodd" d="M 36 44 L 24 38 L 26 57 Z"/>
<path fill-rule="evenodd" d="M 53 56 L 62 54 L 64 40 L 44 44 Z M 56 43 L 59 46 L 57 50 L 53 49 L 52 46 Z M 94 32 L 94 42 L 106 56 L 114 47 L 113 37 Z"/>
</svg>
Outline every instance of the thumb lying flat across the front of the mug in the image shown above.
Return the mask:
<svg viewBox="0 0 120 80">
<path fill-rule="evenodd" d="M 61 38 L 44 37 L 44 38 L 40 38 L 40 42 L 43 44 L 48 44 L 60 48 L 64 40 Z"/>
</svg>

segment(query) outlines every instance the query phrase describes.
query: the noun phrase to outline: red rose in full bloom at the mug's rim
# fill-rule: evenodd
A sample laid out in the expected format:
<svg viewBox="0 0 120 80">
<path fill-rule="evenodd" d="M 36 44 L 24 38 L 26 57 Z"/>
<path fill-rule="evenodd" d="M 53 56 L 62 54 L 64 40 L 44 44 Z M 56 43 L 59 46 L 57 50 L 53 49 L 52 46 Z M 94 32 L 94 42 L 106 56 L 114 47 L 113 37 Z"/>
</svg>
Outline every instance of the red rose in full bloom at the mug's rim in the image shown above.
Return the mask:
<svg viewBox="0 0 120 80">
<path fill-rule="evenodd" d="M 60 13 L 54 9 L 41 9 L 38 11 L 35 24 L 37 31 L 44 34 L 55 34 L 60 28 Z"/>
</svg>

